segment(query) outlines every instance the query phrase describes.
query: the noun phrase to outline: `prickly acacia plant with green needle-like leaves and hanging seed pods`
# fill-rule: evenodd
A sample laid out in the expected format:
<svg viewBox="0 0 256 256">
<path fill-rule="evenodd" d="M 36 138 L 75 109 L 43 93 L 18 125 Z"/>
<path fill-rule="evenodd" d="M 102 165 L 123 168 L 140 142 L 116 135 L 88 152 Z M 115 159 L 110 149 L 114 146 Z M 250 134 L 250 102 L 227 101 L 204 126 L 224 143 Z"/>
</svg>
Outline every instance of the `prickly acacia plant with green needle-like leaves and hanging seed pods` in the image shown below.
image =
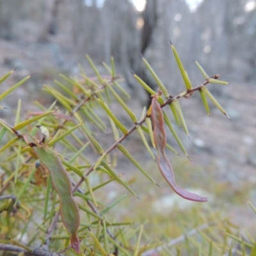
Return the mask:
<svg viewBox="0 0 256 256">
<path fill-rule="evenodd" d="M 179 99 L 188 99 L 198 92 L 208 115 L 210 111 L 207 100 L 211 100 L 228 117 L 207 89 L 209 83 L 228 83 L 218 80 L 217 75 L 209 77 L 196 62 L 204 82 L 193 87 L 175 47 L 171 46 L 185 90 L 172 96 L 145 58 L 142 58 L 159 88 L 155 92 L 133 74 L 134 79 L 152 95 L 152 104 L 147 111 L 143 110 L 141 118 L 132 112 L 118 94 L 119 91 L 129 97 L 118 83 L 120 77 L 116 76 L 113 58 L 111 67 L 103 63 L 109 72 L 108 76 L 103 76 L 90 57 L 86 56 L 95 77 L 88 77 L 82 67 L 79 79 L 61 75 L 64 82 L 54 81 L 55 87 L 44 85 L 44 91 L 56 99 L 49 108 L 36 102 L 40 111 L 31 111 L 26 120 L 21 120 L 22 102 L 19 100 L 14 125 L 0 119 L 0 251 L 3 255 L 150 255 L 152 250 L 159 250 L 159 243 L 140 244 L 143 226 L 129 229 L 129 223 L 125 221 L 108 220 L 108 212 L 124 196 L 117 198 L 111 205 L 105 205 L 100 202 L 97 194 L 98 190 L 104 191 L 107 184 L 118 182 L 136 196 L 129 182 L 115 172 L 116 158 L 112 154 L 115 150 L 122 152 L 147 179 L 156 184 L 147 170 L 122 145 L 134 132 L 140 134 L 141 143 L 156 161 L 161 174 L 175 193 L 188 200 L 207 201 L 206 197 L 184 191 L 175 184 L 165 150 L 168 148 L 175 154 L 177 152 L 166 143 L 164 124 L 172 132 L 182 152 L 186 156 L 188 154 L 164 108 L 172 110 L 175 122 L 189 136 Z M 3 76 L 0 83 L 13 72 Z M 3 92 L 0 100 L 28 79 L 24 78 Z M 131 127 L 122 124 L 115 111 L 111 110 L 113 100 L 127 112 L 132 121 Z M 4 111 L 4 106 L 1 108 Z M 103 134 L 108 127 L 111 127 L 114 141 L 110 147 L 105 147 L 100 143 L 99 133 Z M 151 145 L 148 141 L 151 141 Z M 86 148 L 90 148 L 94 158 L 86 157 Z M 157 156 L 152 148 L 156 148 Z M 97 184 L 92 182 L 91 173 L 99 178 Z M 192 236 L 192 233 L 187 236 Z M 132 240 L 134 237 L 135 243 Z M 211 244 L 216 250 L 230 250 L 226 243 Z M 252 248 L 252 244 L 247 246 Z M 212 248 L 210 253 L 214 250 Z"/>
</svg>

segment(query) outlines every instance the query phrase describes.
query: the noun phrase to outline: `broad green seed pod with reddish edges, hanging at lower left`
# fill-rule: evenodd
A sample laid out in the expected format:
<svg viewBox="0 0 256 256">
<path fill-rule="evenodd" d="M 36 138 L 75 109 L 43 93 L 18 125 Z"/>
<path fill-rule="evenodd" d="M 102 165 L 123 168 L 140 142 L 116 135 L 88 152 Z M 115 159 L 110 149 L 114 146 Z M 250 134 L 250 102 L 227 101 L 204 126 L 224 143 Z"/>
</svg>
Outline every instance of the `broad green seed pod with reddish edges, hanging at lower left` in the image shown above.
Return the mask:
<svg viewBox="0 0 256 256">
<path fill-rule="evenodd" d="M 45 127 L 39 127 L 41 131 L 46 133 Z M 43 135 L 44 136 L 44 135 Z M 79 228 L 80 216 L 77 204 L 72 196 L 72 184 L 68 173 L 65 170 L 60 158 L 52 151 L 47 143 L 43 141 L 32 140 L 29 136 L 26 137 L 30 147 L 36 152 L 40 163 L 44 164 L 51 173 L 52 183 L 60 196 L 60 214 L 63 224 L 70 234 L 70 242 L 72 248 L 79 253 L 79 239 L 77 237 L 77 230 Z"/>
</svg>

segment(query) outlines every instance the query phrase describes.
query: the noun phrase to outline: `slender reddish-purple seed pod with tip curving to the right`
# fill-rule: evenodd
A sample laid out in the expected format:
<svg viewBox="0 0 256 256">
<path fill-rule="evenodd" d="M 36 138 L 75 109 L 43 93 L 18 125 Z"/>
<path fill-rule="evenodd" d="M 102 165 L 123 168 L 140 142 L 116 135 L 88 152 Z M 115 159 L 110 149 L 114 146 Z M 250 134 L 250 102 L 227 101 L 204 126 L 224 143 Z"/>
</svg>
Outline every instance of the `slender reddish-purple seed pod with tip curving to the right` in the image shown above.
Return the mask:
<svg viewBox="0 0 256 256">
<path fill-rule="evenodd" d="M 166 145 L 166 134 L 164 131 L 163 113 L 157 101 L 157 95 L 153 95 L 151 116 L 152 116 L 152 122 L 154 124 L 154 140 L 155 140 L 156 149 L 157 149 L 157 165 L 164 179 L 172 187 L 173 191 L 175 191 L 175 193 L 182 196 L 183 198 L 186 198 L 191 201 L 197 201 L 197 202 L 207 201 L 206 197 L 198 196 L 184 189 L 181 189 L 175 183 L 175 177 L 172 170 L 172 166 L 168 161 L 166 154 L 164 152 L 164 148 Z"/>
</svg>

